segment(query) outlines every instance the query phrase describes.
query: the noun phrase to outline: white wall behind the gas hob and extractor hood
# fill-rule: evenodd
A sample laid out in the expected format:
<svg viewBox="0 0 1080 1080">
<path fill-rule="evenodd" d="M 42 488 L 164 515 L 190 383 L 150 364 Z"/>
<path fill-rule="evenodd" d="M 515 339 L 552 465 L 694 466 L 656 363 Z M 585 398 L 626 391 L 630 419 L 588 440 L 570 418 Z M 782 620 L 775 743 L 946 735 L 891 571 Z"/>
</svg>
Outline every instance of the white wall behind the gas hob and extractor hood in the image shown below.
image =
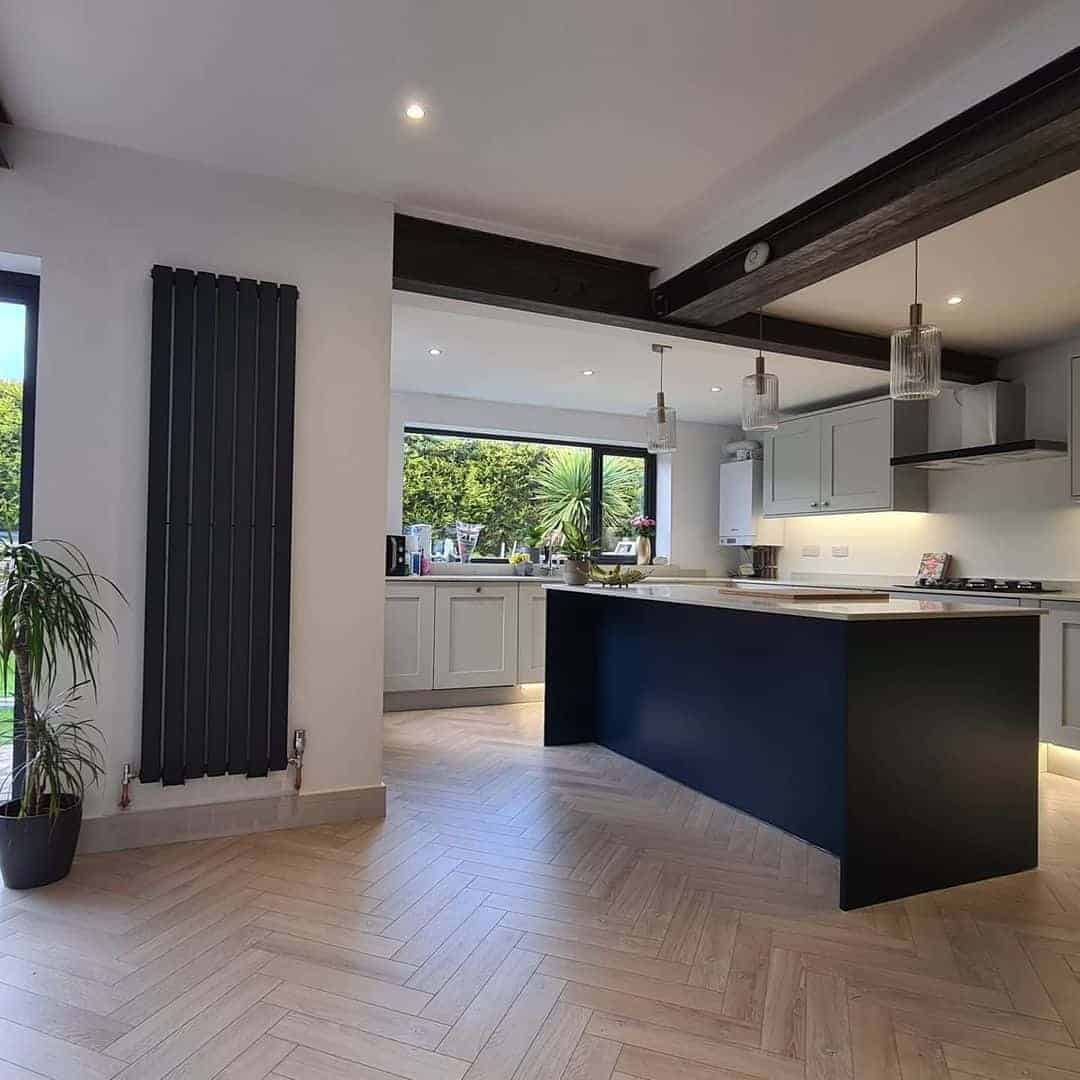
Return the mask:
<svg viewBox="0 0 1080 1080">
<path fill-rule="evenodd" d="M 1003 378 L 1027 388 L 1027 434 L 1067 437 L 1068 357 L 1080 335 L 1004 361 Z M 946 390 L 931 405 L 931 445 L 957 446 L 958 406 Z M 822 555 L 801 555 L 818 544 Z M 848 544 L 848 558 L 833 558 Z M 924 551 L 948 551 L 958 575 L 1080 580 L 1080 503 L 1068 497 L 1066 459 L 930 474 L 930 513 L 788 518 L 783 572 L 912 577 Z"/>
</svg>

